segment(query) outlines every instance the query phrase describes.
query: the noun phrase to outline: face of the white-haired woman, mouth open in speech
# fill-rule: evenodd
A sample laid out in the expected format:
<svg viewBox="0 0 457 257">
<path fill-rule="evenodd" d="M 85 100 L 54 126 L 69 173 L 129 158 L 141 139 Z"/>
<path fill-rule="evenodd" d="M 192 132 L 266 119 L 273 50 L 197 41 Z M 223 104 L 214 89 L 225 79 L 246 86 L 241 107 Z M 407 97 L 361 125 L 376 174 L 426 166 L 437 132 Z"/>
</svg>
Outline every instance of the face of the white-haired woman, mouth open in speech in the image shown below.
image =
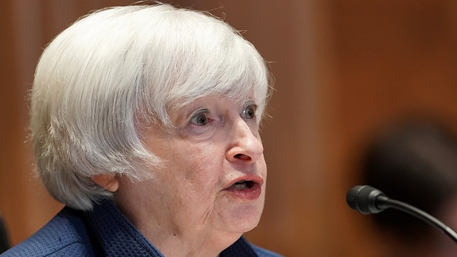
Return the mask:
<svg viewBox="0 0 457 257">
<path fill-rule="evenodd" d="M 267 180 L 256 115 L 254 102 L 203 98 L 172 115 L 176 128 L 147 131 L 146 145 L 165 168 L 153 171 L 156 181 L 131 187 L 129 205 L 173 234 L 253 229 Z"/>
</svg>

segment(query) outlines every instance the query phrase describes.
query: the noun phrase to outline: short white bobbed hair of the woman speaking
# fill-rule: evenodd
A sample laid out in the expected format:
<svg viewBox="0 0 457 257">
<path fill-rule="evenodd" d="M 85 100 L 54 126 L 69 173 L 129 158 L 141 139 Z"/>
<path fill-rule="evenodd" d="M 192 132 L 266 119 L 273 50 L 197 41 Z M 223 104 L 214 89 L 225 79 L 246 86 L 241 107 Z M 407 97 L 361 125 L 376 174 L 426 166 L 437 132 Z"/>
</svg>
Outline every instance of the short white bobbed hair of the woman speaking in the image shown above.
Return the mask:
<svg viewBox="0 0 457 257">
<path fill-rule="evenodd" d="M 235 29 L 207 13 L 166 4 L 112 7 L 56 36 L 37 65 L 30 128 L 36 172 L 58 201 L 81 210 L 112 197 L 90 177 L 154 178 L 161 160 L 145 124 L 208 95 L 253 98 L 262 119 L 266 62 Z"/>
</svg>

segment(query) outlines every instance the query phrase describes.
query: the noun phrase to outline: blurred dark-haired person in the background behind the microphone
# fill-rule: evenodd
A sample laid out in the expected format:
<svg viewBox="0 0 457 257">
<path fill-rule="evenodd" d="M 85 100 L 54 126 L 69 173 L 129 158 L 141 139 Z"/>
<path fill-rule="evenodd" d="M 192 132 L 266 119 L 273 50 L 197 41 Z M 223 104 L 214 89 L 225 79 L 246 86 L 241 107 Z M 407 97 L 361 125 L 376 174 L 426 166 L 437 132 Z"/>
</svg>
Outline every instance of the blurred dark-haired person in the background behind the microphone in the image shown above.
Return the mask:
<svg viewBox="0 0 457 257">
<path fill-rule="evenodd" d="M 363 184 L 457 228 L 457 139 L 432 119 L 411 118 L 367 147 Z M 428 223 L 395 209 L 370 215 L 381 238 L 378 256 L 455 256 L 457 246 Z"/>
</svg>

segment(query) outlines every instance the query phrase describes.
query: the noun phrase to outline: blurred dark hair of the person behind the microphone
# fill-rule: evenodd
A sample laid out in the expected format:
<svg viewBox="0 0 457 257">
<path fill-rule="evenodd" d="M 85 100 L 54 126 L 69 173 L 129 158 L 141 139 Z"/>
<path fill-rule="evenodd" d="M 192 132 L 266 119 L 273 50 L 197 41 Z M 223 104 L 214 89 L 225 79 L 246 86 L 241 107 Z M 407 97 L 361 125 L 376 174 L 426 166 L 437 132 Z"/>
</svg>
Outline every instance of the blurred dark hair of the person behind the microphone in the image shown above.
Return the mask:
<svg viewBox="0 0 457 257">
<path fill-rule="evenodd" d="M 440 218 L 437 215 L 457 191 L 457 139 L 435 120 L 404 121 L 368 145 L 362 172 L 364 183 L 389 198 Z M 382 230 L 405 241 L 428 240 L 438 233 L 426 222 L 395 209 L 371 216 Z"/>
</svg>

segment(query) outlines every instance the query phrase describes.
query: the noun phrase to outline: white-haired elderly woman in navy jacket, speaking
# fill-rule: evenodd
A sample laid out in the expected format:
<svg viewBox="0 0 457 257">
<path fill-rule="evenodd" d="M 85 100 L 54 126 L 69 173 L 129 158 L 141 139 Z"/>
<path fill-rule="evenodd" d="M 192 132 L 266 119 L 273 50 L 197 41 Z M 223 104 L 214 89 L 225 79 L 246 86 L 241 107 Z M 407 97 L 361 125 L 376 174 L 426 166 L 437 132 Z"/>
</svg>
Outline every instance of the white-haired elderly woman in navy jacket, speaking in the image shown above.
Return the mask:
<svg viewBox="0 0 457 257">
<path fill-rule="evenodd" d="M 279 256 L 257 226 L 265 61 L 210 15 L 89 14 L 44 50 L 31 92 L 37 165 L 66 207 L 6 256 Z M 3 255 L 2 255 L 3 256 Z"/>
</svg>

